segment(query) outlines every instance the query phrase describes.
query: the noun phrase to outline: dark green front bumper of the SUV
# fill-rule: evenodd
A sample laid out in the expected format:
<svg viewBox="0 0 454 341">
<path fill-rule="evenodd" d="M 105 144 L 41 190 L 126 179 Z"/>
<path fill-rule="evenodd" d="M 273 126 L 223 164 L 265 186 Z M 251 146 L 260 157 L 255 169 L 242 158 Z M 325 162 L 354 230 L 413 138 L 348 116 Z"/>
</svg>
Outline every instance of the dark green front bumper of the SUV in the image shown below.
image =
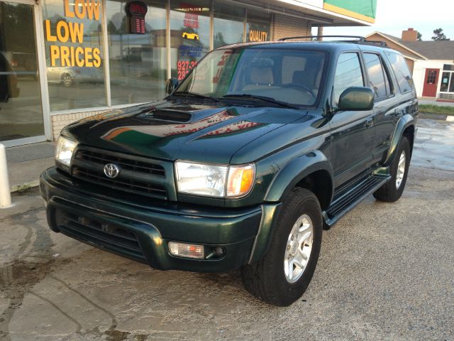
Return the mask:
<svg viewBox="0 0 454 341">
<path fill-rule="evenodd" d="M 248 263 L 259 232 L 261 205 L 226 210 L 171 204 L 149 205 L 147 199 L 122 200 L 115 190 L 92 190 L 57 168 L 40 178 L 50 229 L 94 247 L 149 264 L 155 269 L 222 272 Z M 168 242 L 203 244 L 205 256 L 223 247 L 223 256 L 187 259 L 172 256 Z"/>
</svg>

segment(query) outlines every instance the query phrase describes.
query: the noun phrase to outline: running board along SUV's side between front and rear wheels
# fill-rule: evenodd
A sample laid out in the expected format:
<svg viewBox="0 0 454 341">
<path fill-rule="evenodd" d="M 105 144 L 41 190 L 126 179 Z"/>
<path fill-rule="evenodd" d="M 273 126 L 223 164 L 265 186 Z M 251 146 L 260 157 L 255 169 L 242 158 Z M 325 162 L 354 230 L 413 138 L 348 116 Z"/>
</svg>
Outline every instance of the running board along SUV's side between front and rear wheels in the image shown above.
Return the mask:
<svg viewBox="0 0 454 341">
<path fill-rule="evenodd" d="M 369 175 L 366 178 L 362 178 L 352 190 L 331 202 L 328 210 L 323 211 L 323 219 L 327 229 L 333 226 L 345 213 L 358 205 L 367 195 L 374 193 L 384 183 L 387 183 L 389 178 L 391 178 L 390 175 L 377 175 L 377 173 Z"/>
</svg>

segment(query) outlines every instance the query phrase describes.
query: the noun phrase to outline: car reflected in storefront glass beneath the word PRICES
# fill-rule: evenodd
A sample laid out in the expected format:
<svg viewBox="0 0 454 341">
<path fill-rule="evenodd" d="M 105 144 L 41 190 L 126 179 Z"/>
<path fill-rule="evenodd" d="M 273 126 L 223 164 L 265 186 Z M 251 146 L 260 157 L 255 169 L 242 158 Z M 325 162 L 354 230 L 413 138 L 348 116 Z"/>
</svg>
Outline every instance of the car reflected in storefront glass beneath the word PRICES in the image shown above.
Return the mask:
<svg viewBox="0 0 454 341">
<path fill-rule="evenodd" d="M 99 67 L 78 66 L 50 66 L 47 60 L 48 82 L 62 83 L 70 87 L 75 83 L 102 83 L 104 82 L 103 69 Z"/>
</svg>

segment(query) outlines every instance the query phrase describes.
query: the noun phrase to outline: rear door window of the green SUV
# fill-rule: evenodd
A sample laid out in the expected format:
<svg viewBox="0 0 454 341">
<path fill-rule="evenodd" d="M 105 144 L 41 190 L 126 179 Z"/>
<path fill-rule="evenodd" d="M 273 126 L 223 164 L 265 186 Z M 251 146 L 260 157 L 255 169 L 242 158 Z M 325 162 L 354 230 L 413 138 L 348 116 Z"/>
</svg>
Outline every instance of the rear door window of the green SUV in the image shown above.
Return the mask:
<svg viewBox="0 0 454 341">
<path fill-rule="evenodd" d="M 369 86 L 374 91 L 375 99 L 387 97 L 391 94 L 389 80 L 386 71 L 380 60 L 380 56 L 375 53 L 364 53 L 364 60 L 369 75 Z"/>
</svg>

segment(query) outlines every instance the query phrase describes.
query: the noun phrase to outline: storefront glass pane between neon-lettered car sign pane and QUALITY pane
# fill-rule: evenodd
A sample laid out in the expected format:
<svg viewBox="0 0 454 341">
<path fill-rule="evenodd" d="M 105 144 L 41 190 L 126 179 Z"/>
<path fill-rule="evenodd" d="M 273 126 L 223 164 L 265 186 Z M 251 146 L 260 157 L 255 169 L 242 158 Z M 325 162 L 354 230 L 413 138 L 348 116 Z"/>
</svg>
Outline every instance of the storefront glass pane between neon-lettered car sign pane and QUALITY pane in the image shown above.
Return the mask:
<svg viewBox="0 0 454 341">
<path fill-rule="evenodd" d="M 245 9 L 214 2 L 214 48 L 243 43 Z"/>
</svg>

